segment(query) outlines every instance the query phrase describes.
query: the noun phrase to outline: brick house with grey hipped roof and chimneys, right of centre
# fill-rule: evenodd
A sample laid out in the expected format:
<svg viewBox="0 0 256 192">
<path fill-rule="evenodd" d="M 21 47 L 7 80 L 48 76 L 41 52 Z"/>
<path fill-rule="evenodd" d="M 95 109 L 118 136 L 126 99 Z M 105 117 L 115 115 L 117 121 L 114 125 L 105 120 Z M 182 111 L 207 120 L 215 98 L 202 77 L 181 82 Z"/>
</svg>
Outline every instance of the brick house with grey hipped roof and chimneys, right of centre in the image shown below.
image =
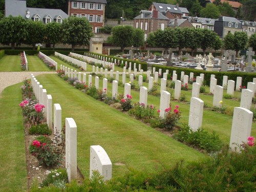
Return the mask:
<svg viewBox="0 0 256 192">
<path fill-rule="evenodd" d="M 134 18 L 134 28 L 141 28 L 144 31 L 146 40 L 148 33 L 158 29 L 164 30 L 168 27 L 169 18 L 156 9 L 153 11 L 141 10 L 140 15 Z"/>
</svg>

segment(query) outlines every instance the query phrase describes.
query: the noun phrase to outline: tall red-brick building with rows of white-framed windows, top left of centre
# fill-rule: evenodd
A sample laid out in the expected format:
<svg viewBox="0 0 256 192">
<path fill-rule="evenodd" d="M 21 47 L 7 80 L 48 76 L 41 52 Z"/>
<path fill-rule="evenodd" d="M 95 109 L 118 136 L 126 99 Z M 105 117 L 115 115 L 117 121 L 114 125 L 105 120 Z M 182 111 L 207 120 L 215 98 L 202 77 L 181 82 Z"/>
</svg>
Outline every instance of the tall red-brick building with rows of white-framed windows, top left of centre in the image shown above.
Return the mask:
<svg viewBox="0 0 256 192">
<path fill-rule="evenodd" d="M 99 33 L 104 26 L 105 5 L 106 0 L 68 0 L 68 15 L 86 17 L 93 31 Z"/>
</svg>

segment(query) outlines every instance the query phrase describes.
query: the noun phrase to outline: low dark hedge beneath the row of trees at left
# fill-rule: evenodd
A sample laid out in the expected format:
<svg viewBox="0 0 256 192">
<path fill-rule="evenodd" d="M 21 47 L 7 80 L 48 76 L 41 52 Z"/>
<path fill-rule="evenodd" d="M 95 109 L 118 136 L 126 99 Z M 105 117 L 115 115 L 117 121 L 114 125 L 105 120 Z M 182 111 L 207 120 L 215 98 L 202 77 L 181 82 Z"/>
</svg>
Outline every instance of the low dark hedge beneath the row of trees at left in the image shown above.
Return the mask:
<svg viewBox="0 0 256 192">
<path fill-rule="evenodd" d="M 5 50 L 5 54 L 6 55 L 19 55 L 21 52 L 23 52 L 24 50 Z M 60 51 L 60 50 L 40 50 L 42 53 L 46 54 L 46 55 L 54 55 L 54 52 L 58 52 L 61 53 L 63 55 L 69 55 L 69 53 L 71 51 Z M 37 50 L 25 50 L 26 55 L 37 55 L 39 51 Z M 73 53 L 77 53 L 77 54 L 84 54 L 84 51 L 73 51 Z"/>
</svg>

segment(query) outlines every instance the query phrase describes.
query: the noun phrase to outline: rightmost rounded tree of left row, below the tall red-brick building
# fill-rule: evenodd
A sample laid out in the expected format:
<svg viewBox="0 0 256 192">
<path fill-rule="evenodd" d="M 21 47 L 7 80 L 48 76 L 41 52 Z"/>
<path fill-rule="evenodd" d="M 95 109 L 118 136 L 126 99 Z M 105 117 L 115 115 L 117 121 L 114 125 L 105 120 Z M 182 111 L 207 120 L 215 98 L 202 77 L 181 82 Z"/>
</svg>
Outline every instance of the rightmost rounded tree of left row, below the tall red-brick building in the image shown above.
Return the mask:
<svg viewBox="0 0 256 192">
<path fill-rule="evenodd" d="M 69 17 L 62 22 L 63 43 L 72 46 L 87 46 L 90 44 L 90 38 L 93 36 L 92 26 L 89 21 L 82 17 Z"/>
</svg>

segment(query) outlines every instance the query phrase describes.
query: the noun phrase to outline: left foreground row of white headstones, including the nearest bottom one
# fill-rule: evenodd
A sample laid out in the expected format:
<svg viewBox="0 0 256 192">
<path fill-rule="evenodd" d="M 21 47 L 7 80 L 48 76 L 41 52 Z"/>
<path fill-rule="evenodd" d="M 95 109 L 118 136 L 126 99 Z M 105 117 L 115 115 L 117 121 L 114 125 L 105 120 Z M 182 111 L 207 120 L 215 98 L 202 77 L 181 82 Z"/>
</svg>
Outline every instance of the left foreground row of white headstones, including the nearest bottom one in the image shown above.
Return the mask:
<svg viewBox="0 0 256 192">
<path fill-rule="evenodd" d="M 62 142 L 61 138 L 61 106 L 58 103 L 53 104 L 53 124 L 52 124 L 52 96 L 47 95 L 46 89 L 42 89 L 42 85 L 38 82 L 33 74 L 31 74 L 31 84 L 33 92 L 39 103 L 45 105 L 44 113 L 47 117 L 47 124 L 49 129 L 54 127 L 54 142 L 56 145 Z M 65 119 L 65 166 L 67 169 L 68 180 L 77 179 L 77 125 L 73 118 Z M 104 180 L 112 178 L 112 163 L 111 160 L 99 145 L 90 147 L 90 177 L 92 177 L 93 170 L 98 172 L 104 177 Z"/>
</svg>

